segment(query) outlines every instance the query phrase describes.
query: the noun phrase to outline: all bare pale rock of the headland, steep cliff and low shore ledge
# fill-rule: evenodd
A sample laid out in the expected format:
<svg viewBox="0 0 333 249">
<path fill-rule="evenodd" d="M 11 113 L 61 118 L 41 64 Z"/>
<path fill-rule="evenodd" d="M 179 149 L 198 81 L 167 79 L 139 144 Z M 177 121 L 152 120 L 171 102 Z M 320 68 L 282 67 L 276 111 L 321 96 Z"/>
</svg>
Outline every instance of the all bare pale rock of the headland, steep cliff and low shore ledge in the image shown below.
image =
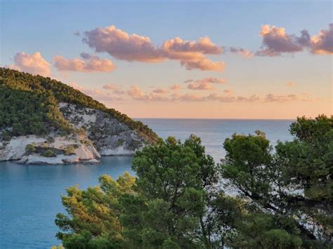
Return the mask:
<svg viewBox="0 0 333 249">
<path fill-rule="evenodd" d="M 25 164 L 98 163 L 102 156 L 133 155 L 147 142 L 126 124 L 98 109 L 60 103 L 60 112 L 76 129 L 66 137 L 26 135 L 0 141 L 0 161 Z"/>
</svg>

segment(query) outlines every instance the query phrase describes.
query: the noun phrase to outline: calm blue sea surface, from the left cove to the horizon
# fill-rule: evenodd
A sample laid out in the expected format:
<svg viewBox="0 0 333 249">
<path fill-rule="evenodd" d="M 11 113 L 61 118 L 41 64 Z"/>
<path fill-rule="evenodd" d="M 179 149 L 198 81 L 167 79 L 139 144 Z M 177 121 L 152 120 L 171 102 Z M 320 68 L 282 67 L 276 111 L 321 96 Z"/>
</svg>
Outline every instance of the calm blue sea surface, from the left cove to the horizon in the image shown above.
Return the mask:
<svg viewBox="0 0 333 249">
<path fill-rule="evenodd" d="M 141 119 L 163 138 L 169 135 L 185 140 L 190 134 L 202 138 L 207 154 L 216 161 L 225 156 L 222 144 L 233 133 L 261 130 L 275 144 L 291 140 L 286 120 L 223 119 Z M 0 162 L 0 248 L 50 248 L 60 244 L 55 238 L 56 213 L 64 212 L 60 195 L 74 184 L 96 185 L 98 177 L 114 178 L 131 172 L 131 157 L 103 157 L 100 165 L 22 166 Z"/>
</svg>

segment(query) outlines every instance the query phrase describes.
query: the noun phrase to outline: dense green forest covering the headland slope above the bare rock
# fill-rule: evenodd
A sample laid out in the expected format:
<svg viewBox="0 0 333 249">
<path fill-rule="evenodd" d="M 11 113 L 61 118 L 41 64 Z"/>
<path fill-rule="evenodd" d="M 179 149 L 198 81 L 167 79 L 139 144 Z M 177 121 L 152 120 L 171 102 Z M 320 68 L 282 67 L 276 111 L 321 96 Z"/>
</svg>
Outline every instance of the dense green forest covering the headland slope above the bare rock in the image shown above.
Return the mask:
<svg viewBox="0 0 333 249">
<path fill-rule="evenodd" d="M 157 141 L 157 135 L 141 121 L 134 121 L 115 109 L 108 109 L 65 83 L 0 67 L 0 130 L 6 129 L 1 134 L 3 138 L 44 135 L 50 130 L 72 132 L 70 124 L 58 110 L 59 102 L 99 109 L 136 130 L 148 141 Z"/>
</svg>

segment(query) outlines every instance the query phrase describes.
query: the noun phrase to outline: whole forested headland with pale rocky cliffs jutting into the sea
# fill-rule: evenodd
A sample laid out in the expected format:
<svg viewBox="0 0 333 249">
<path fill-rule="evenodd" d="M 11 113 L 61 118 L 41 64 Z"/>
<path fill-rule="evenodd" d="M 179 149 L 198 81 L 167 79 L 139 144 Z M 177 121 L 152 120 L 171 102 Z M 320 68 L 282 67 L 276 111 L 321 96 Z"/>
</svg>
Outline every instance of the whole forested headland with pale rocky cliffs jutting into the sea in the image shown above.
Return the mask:
<svg viewBox="0 0 333 249">
<path fill-rule="evenodd" d="M 27 146 L 27 142 L 22 141 L 31 142 L 34 140 L 31 136 L 44 137 L 52 142 L 63 141 L 48 144 L 58 154 L 65 151 L 56 149 L 70 140 L 88 141 L 79 142 L 75 147 L 91 144 L 102 155 L 114 155 L 133 154 L 144 144 L 152 144 L 158 139 L 142 122 L 134 121 L 115 109 L 108 109 L 65 83 L 0 68 L 0 161 L 20 159 L 22 155 L 8 156 L 8 151 L 15 150 L 15 146 L 22 151 L 22 147 Z M 11 149 L 9 146 L 12 146 Z M 43 149 L 39 151 L 44 152 Z"/>
</svg>

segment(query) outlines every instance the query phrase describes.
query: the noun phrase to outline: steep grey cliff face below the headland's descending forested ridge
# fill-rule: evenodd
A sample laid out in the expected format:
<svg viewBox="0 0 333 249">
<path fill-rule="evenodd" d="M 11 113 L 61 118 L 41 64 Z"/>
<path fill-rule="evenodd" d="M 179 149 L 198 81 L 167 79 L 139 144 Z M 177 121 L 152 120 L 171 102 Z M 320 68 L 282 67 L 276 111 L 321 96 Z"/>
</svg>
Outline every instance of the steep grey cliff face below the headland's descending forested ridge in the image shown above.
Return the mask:
<svg viewBox="0 0 333 249">
<path fill-rule="evenodd" d="M 133 155 L 145 140 L 126 124 L 100 110 L 60 103 L 60 112 L 72 126 L 84 128 L 102 156 Z"/>
</svg>

